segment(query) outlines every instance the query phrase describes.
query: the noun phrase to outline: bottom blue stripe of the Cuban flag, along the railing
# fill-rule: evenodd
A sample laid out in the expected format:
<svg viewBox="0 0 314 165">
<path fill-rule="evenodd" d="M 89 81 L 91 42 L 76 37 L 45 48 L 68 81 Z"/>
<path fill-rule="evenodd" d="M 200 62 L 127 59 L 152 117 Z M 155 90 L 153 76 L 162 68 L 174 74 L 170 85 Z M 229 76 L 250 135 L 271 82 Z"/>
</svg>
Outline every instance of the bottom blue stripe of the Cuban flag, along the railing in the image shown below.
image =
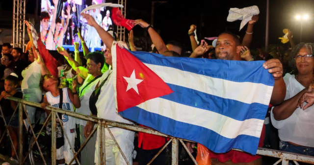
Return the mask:
<svg viewBox="0 0 314 165">
<path fill-rule="evenodd" d="M 119 114 L 137 123 L 154 128 L 161 133 L 197 141 L 216 153 L 225 153 L 232 148 L 237 148 L 255 155 L 260 141 L 260 138 L 247 135 L 239 135 L 236 138 L 225 138 L 204 127 L 179 122 L 138 107 L 132 107 L 119 112 Z M 181 132 L 175 132 L 175 130 L 181 130 Z"/>
</svg>

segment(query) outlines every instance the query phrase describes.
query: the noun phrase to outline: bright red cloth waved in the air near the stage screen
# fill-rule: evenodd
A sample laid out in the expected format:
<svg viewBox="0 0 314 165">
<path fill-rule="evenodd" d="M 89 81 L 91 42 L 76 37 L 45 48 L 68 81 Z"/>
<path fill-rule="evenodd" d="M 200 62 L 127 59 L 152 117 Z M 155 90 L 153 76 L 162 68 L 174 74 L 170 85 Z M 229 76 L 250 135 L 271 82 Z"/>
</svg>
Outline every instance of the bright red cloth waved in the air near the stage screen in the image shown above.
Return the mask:
<svg viewBox="0 0 314 165">
<path fill-rule="evenodd" d="M 125 19 L 121 13 L 121 10 L 117 7 L 112 8 L 112 16 L 113 23 L 116 26 L 122 26 L 127 28 L 129 31 L 134 27 L 134 20 Z"/>
</svg>

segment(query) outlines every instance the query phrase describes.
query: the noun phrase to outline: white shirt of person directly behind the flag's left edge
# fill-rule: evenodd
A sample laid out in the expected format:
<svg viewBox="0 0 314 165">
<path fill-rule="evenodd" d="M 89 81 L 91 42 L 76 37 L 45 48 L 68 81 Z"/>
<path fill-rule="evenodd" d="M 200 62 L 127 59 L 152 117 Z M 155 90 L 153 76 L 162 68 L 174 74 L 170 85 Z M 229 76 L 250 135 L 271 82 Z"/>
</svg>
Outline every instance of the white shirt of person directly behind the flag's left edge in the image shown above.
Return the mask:
<svg viewBox="0 0 314 165">
<path fill-rule="evenodd" d="M 101 81 L 103 82 L 109 73 L 112 73 L 112 70 L 106 71 L 101 77 Z M 97 107 L 97 117 L 123 122 L 127 124 L 133 124 L 130 120 L 127 120 L 121 117 L 116 111 L 115 100 L 114 100 L 114 89 L 113 89 L 113 75 L 110 74 L 109 78 L 105 82 L 105 84 L 101 88 L 101 92 L 99 94 L 98 100 L 96 102 Z"/>
</svg>

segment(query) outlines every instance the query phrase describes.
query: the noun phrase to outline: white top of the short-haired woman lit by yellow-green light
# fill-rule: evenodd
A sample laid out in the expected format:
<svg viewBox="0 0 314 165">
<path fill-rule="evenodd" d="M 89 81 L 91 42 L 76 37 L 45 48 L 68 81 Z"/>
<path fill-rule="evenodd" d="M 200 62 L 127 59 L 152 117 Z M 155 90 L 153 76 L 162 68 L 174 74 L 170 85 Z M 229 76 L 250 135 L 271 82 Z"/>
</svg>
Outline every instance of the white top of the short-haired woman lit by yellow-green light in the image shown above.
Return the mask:
<svg viewBox="0 0 314 165">
<path fill-rule="evenodd" d="M 89 110 L 89 98 L 92 95 L 93 91 L 95 90 L 95 86 L 99 82 L 101 78 L 98 78 L 94 82 L 90 83 L 87 87 L 85 87 L 88 84 L 88 79 L 91 77 L 91 74 L 88 74 L 87 78 L 85 79 L 84 83 L 81 87 L 79 87 L 79 100 L 80 100 L 80 108 L 76 110 L 78 113 L 87 114 L 90 115 L 91 111 Z M 85 88 L 84 88 L 85 87 Z M 83 92 L 83 93 L 82 93 Z M 87 121 L 77 119 L 76 123 L 79 125 L 85 126 Z"/>
</svg>

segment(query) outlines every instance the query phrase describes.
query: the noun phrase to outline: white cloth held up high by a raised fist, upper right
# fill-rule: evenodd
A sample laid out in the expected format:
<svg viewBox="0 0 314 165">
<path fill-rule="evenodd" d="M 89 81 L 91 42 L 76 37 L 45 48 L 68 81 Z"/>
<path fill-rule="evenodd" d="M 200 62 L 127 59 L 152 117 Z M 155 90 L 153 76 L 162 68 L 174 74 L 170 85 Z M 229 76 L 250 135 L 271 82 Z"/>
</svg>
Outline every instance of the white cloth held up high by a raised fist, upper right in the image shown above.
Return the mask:
<svg viewBox="0 0 314 165">
<path fill-rule="evenodd" d="M 229 15 L 227 18 L 228 22 L 234 22 L 236 20 L 242 20 L 239 31 L 252 20 L 254 15 L 260 14 L 258 6 L 250 6 L 242 9 L 230 8 Z"/>
</svg>

